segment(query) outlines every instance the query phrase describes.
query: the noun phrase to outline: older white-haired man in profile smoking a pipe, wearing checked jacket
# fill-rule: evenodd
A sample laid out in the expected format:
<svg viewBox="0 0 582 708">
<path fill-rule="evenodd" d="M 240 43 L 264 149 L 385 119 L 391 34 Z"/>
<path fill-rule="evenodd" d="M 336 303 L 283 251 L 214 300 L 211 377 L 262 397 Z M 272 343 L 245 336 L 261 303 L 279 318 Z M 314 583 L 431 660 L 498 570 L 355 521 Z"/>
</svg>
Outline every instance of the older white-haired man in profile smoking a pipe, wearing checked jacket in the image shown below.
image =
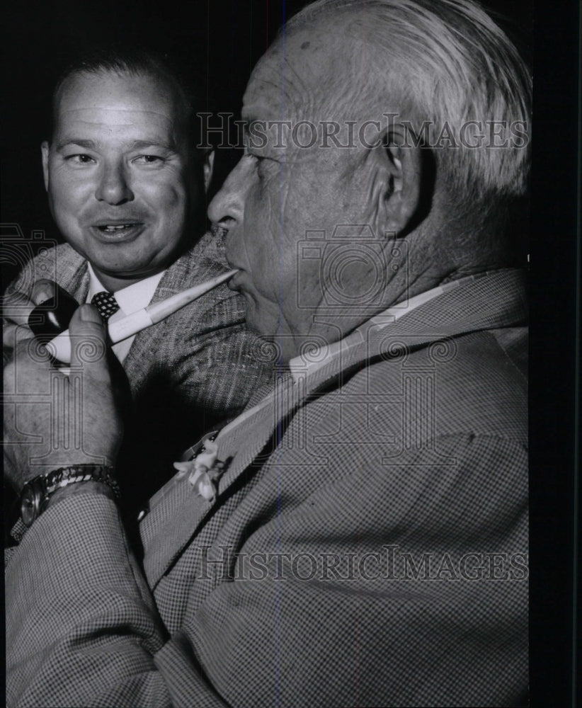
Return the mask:
<svg viewBox="0 0 582 708">
<path fill-rule="evenodd" d="M 150 500 L 142 565 L 105 358 L 76 350 L 67 379 L 21 342 L 8 370 L 13 435 L 83 435 L 75 459 L 43 448 L 40 477 L 42 445 L 8 450 L 28 525 L 6 575 L 9 705 L 527 702 L 508 223 L 529 94 L 469 0 L 322 0 L 287 23 L 209 210 L 277 375 Z M 90 305 L 71 333 L 105 346 Z M 25 405 L 50 382 L 52 417 Z"/>
</svg>

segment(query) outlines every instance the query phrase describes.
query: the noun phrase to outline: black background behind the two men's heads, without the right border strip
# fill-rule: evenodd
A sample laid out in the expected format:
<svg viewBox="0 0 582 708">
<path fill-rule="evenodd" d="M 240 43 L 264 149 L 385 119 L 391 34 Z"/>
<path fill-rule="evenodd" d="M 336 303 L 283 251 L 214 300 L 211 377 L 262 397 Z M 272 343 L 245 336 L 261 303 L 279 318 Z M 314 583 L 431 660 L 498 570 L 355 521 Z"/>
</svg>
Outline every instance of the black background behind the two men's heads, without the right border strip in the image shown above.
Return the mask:
<svg viewBox="0 0 582 708">
<path fill-rule="evenodd" d="M 365 2 L 365 0 L 363 0 Z M 2 23 L 1 188 L 4 224 L 18 224 L 28 241 L 33 230 L 59 240 L 47 206 L 40 143 L 50 128 L 50 95 L 62 70 L 80 52 L 103 45 L 168 52 L 186 76 L 206 84 L 207 107 L 237 113 L 254 64 L 284 18 L 305 0 L 9 0 Z M 529 0 L 489 3 L 526 59 L 531 55 Z M 195 77 L 195 78 L 194 78 Z M 235 115 L 236 118 L 236 115 Z M 216 190 L 239 155 L 219 150 Z M 13 227 L 4 227 L 11 240 Z M 38 244 L 33 244 L 38 248 Z M 23 256 L 2 251 L 4 287 Z"/>
</svg>

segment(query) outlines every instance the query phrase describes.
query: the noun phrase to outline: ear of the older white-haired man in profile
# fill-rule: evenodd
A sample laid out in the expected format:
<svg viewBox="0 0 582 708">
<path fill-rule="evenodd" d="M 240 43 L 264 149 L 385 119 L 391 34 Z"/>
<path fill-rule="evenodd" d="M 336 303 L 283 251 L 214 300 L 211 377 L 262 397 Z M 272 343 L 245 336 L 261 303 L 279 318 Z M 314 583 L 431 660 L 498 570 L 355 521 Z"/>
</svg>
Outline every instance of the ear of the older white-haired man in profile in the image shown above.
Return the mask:
<svg viewBox="0 0 582 708">
<path fill-rule="evenodd" d="M 397 127 L 384 137 L 378 156 L 386 180 L 378 205 L 380 232 L 406 236 L 423 219 L 425 156 L 421 147 L 406 146 L 406 135 Z"/>
</svg>

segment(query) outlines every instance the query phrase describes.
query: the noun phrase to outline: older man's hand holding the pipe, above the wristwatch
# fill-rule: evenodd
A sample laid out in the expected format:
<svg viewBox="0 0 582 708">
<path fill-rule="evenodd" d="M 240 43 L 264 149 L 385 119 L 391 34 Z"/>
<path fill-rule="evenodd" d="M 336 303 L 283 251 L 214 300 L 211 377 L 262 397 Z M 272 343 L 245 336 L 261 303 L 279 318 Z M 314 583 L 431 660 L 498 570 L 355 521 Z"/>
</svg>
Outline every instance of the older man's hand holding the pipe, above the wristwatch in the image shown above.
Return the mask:
<svg viewBox="0 0 582 708">
<path fill-rule="evenodd" d="M 71 464 L 115 464 L 122 423 L 97 310 L 82 305 L 69 332 L 69 375 L 50 364 L 35 339 L 16 345 L 4 370 L 5 476 L 20 491 L 28 479 Z"/>
</svg>

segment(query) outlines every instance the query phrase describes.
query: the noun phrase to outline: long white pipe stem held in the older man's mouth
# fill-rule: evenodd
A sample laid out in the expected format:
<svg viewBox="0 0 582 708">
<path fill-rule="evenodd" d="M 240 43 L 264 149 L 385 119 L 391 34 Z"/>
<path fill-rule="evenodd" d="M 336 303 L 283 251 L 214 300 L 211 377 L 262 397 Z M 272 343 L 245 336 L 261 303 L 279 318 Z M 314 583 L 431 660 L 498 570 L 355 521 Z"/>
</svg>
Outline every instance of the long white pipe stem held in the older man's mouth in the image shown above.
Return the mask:
<svg viewBox="0 0 582 708">
<path fill-rule="evenodd" d="M 142 329 L 147 329 L 151 327 L 152 324 L 161 322 L 166 317 L 170 316 L 174 312 L 177 312 L 182 307 L 185 307 L 190 302 L 194 302 L 201 295 L 205 295 L 209 290 L 221 285 L 223 282 L 232 278 L 236 273 L 236 270 L 229 270 L 228 273 L 222 273 L 222 275 L 217 275 L 216 278 L 212 280 L 207 280 L 202 282 L 200 285 L 195 285 L 194 287 L 189 287 L 188 290 L 183 290 L 182 292 L 176 293 L 171 297 L 161 300 L 160 302 L 154 302 L 147 307 L 137 310 L 132 314 L 127 315 L 127 317 L 122 317 L 114 322 L 109 322 L 107 329 L 109 333 L 109 340 L 111 344 L 117 344 L 118 342 L 127 339 L 128 337 L 141 332 Z M 71 362 L 71 340 L 69 338 L 69 330 L 66 329 L 64 332 L 58 334 L 54 339 L 52 339 L 46 345 L 47 352 L 55 359 L 64 364 L 70 364 Z"/>
</svg>

